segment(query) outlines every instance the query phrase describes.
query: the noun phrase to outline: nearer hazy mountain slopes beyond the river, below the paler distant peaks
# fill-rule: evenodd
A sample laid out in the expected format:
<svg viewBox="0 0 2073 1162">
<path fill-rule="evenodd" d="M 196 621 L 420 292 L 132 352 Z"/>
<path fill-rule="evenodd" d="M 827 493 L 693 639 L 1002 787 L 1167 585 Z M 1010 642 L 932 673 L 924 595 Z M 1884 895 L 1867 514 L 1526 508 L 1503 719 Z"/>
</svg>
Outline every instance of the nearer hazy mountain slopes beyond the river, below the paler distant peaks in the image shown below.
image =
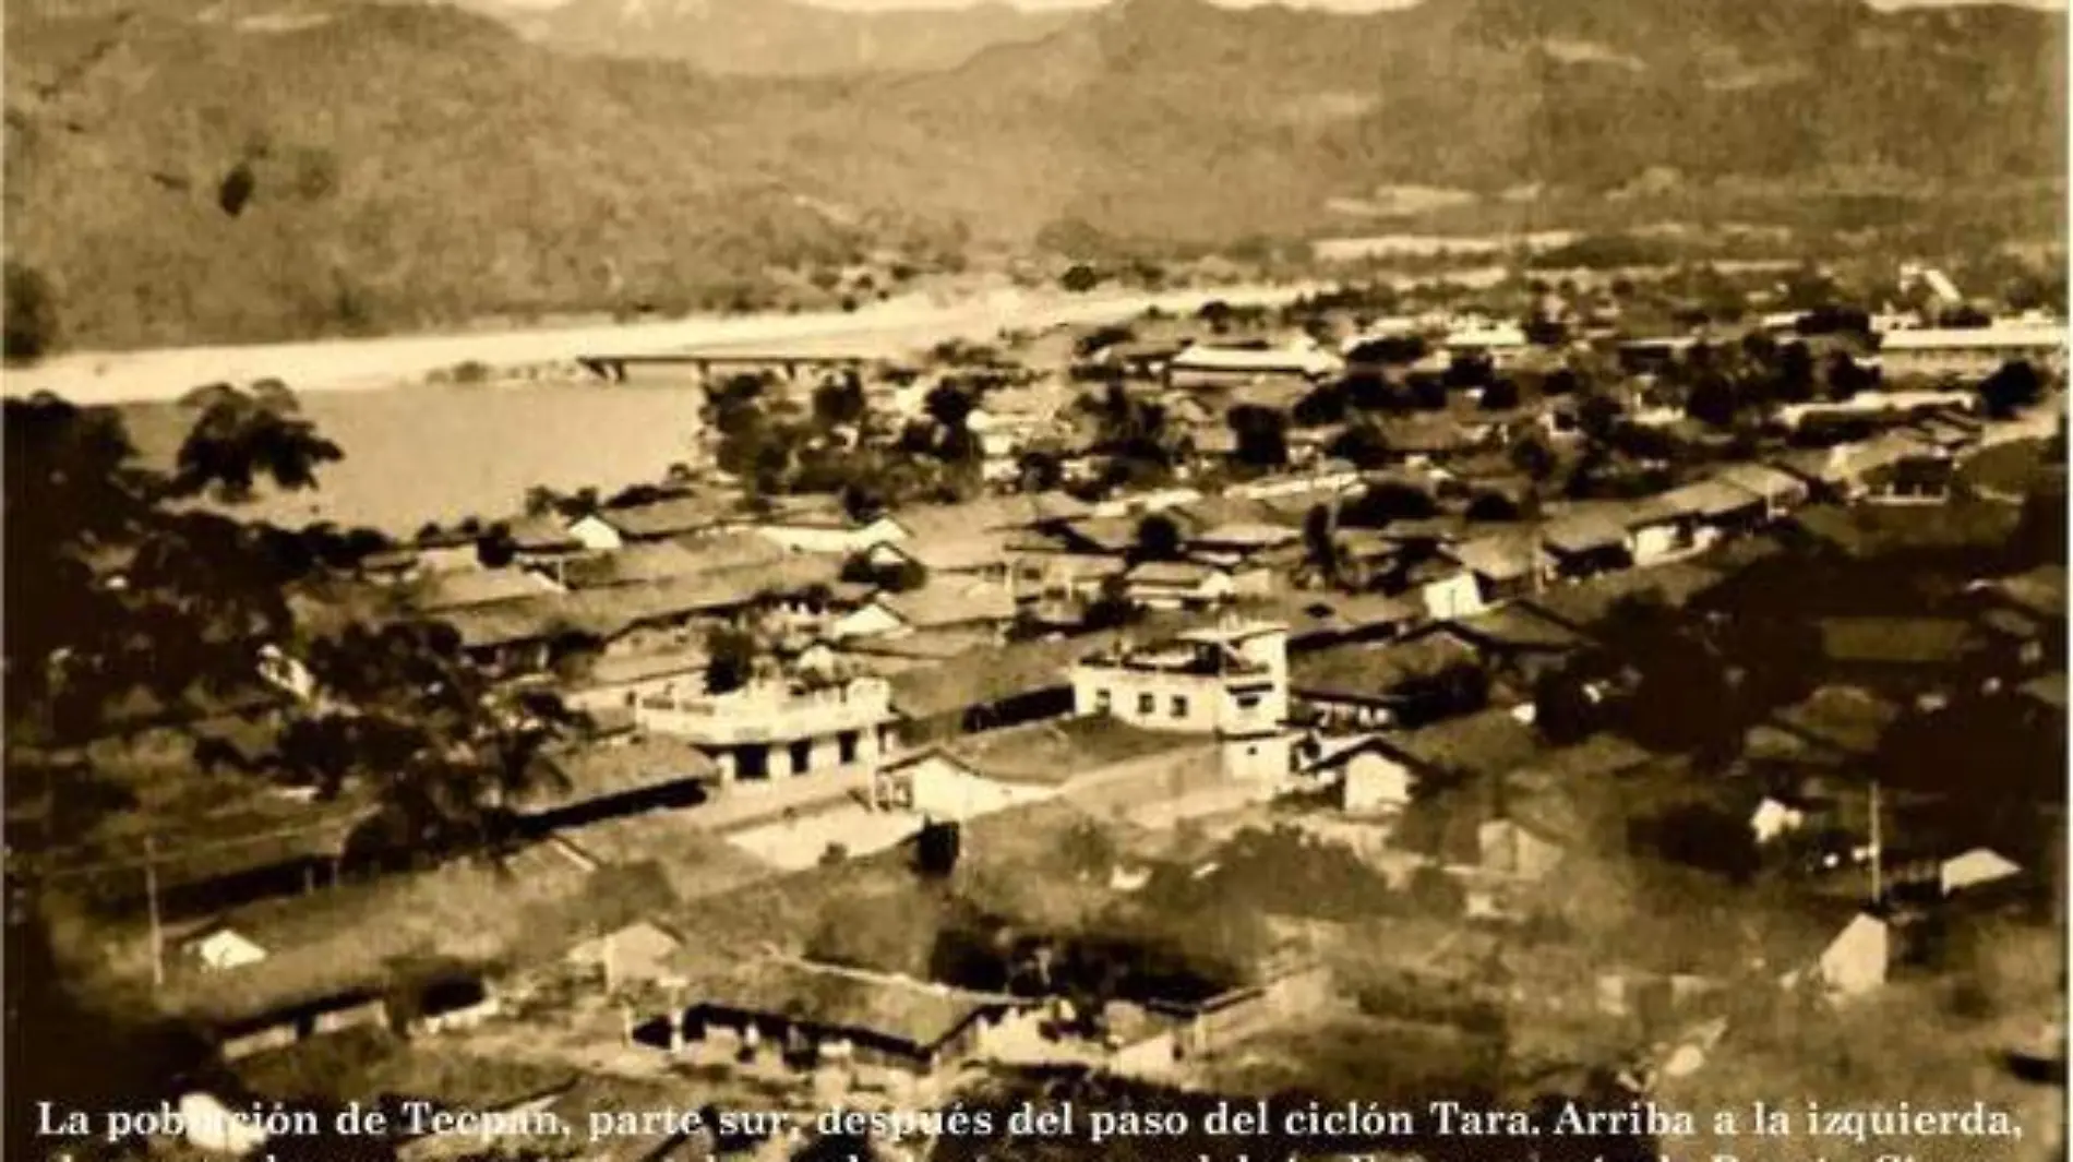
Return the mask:
<svg viewBox="0 0 2073 1162">
<path fill-rule="evenodd" d="M 164 344 L 723 302 L 873 246 L 1347 230 L 1397 184 L 1602 211 L 1636 184 L 2065 174 L 2065 17 L 2013 6 L 1117 0 L 813 77 L 537 33 L 365 0 L 10 4 L 8 253 L 68 342 Z"/>
</svg>

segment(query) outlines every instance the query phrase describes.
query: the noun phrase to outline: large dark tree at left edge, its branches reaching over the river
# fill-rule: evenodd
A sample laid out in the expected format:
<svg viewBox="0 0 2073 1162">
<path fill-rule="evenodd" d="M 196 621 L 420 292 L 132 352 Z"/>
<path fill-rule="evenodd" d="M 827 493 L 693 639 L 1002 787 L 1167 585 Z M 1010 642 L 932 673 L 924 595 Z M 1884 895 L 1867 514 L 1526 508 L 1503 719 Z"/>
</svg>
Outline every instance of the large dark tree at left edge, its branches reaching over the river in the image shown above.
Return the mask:
<svg viewBox="0 0 2073 1162">
<path fill-rule="evenodd" d="M 336 460 L 307 425 L 251 435 L 247 404 L 211 406 L 166 474 L 137 464 L 116 410 L 6 402 L 10 737 L 93 733 L 135 690 L 176 702 L 249 681 L 259 646 L 286 636 L 284 586 L 319 559 L 305 534 L 174 503 L 224 483 L 243 499 L 261 478 L 307 489 Z M 122 588 L 102 584 L 108 553 L 129 557 Z"/>
</svg>

